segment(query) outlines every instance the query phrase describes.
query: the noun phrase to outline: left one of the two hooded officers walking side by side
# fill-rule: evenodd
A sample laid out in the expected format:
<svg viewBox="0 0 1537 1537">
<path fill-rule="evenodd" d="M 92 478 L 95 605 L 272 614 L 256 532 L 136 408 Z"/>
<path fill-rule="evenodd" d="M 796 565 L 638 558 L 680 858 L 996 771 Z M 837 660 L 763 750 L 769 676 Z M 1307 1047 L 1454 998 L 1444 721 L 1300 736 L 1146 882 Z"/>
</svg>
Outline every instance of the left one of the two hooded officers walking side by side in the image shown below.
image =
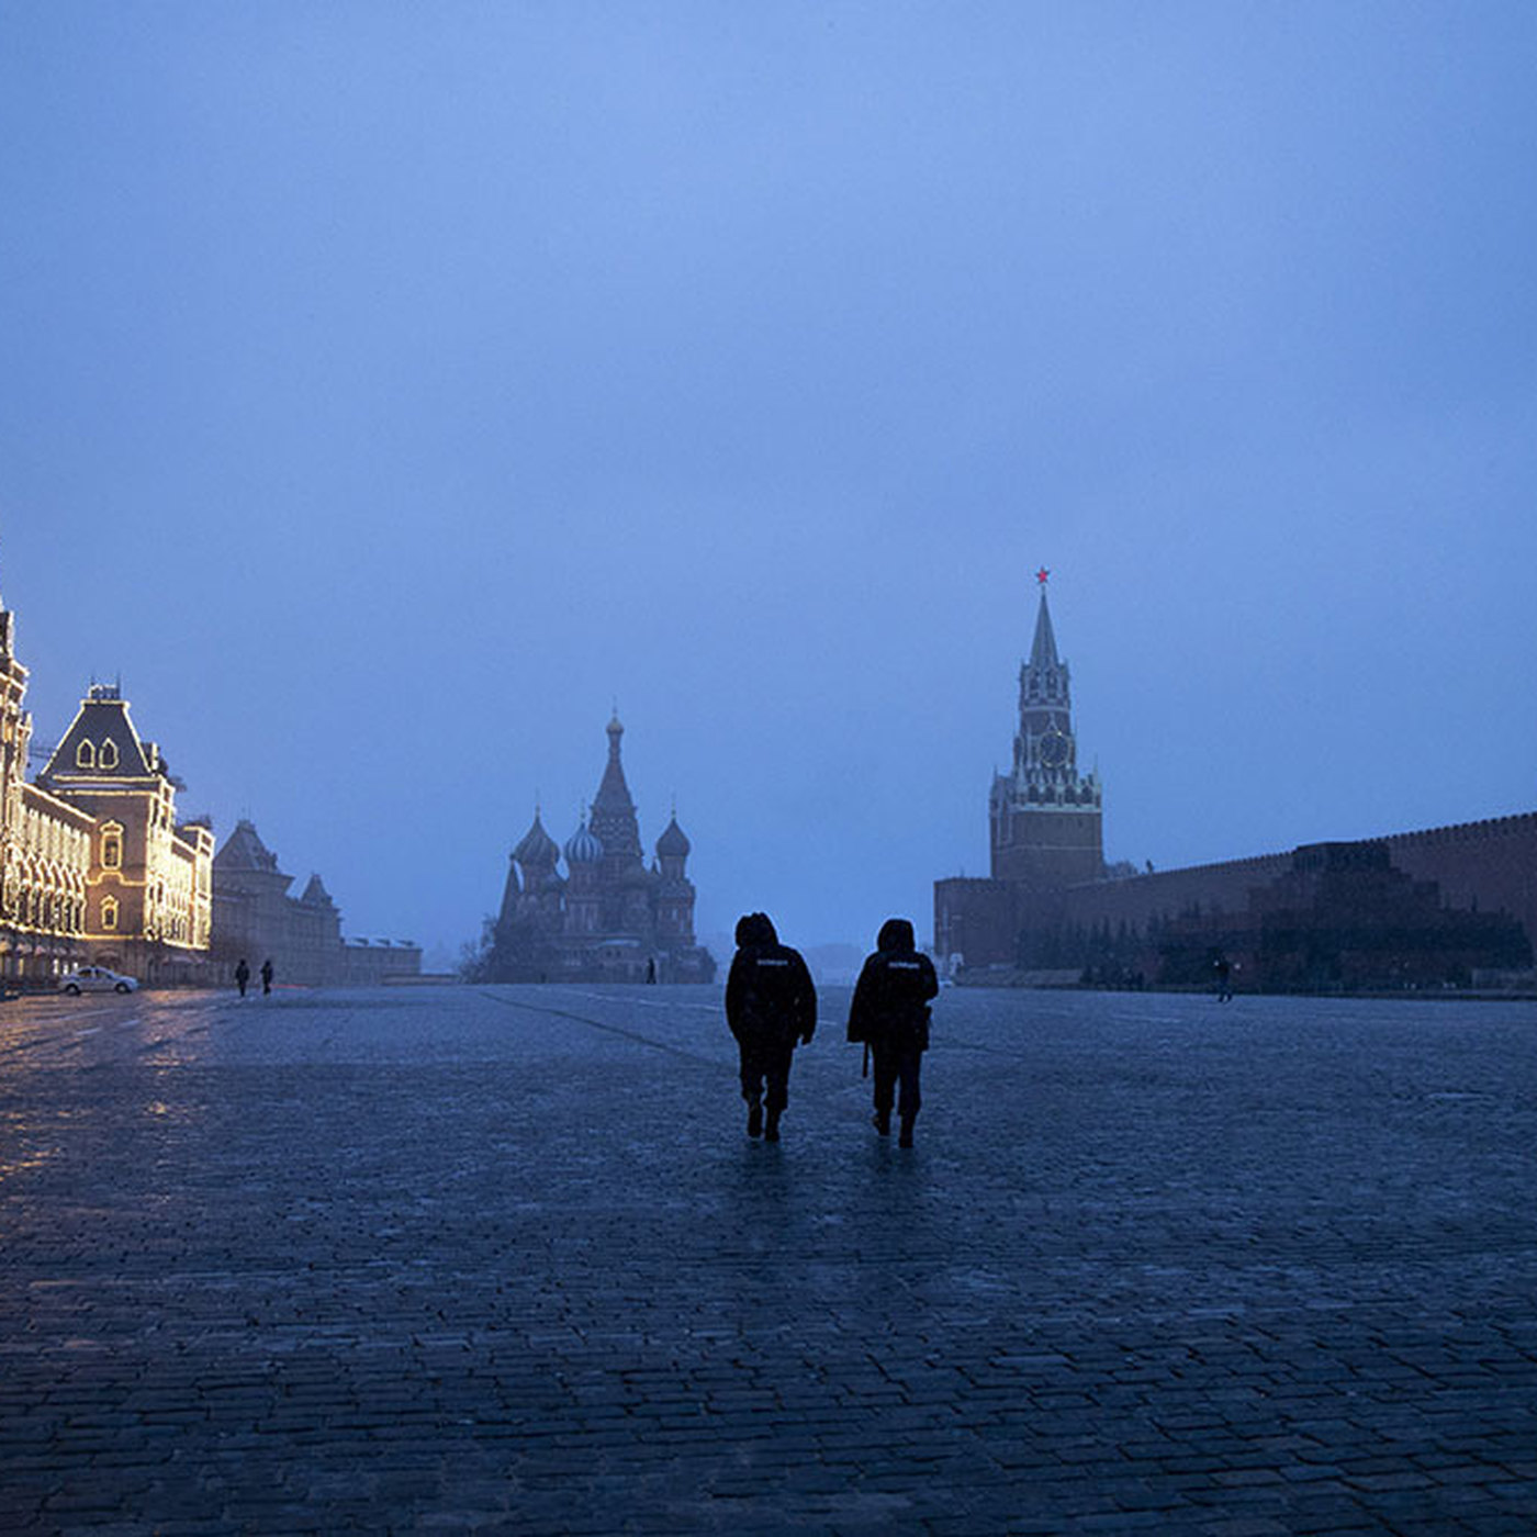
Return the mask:
<svg viewBox="0 0 1537 1537">
<path fill-rule="evenodd" d="M 816 1030 L 816 988 L 799 953 L 779 944 L 767 913 L 747 913 L 736 924 L 725 1022 L 741 1053 L 747 1134 L 778 1142 L 795 1044 L 810 1045 Z"/>
</svg>

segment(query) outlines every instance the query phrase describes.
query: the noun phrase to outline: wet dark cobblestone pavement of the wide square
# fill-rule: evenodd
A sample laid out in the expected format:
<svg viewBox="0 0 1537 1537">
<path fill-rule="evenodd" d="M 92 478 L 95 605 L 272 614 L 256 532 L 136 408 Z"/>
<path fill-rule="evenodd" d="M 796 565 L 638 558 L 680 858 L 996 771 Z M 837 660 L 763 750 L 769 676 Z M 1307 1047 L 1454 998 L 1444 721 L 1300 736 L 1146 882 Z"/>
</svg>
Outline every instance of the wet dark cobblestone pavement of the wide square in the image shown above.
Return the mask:
<svg viewBox="0 0 1537 1537">
<path fill-rule="evenodd" d="M 6 1004 L 0 1529 L 1537 1529 L 1537 1010 L 845 1007 Z"/>
</svg>

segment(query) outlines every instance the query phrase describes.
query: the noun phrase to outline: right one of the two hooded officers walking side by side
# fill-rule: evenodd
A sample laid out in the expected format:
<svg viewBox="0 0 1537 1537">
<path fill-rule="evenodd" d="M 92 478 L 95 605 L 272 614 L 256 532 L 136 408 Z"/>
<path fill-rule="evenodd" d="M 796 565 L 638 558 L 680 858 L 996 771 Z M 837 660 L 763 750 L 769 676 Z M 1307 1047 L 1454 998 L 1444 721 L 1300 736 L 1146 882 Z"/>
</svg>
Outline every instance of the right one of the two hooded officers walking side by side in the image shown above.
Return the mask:
<svg viewBox="0 0 1537 1537">
<path fill-rule="evenodd" d="M 902 1120 L 898 1142 L 904 1148 L 913 1145 L 913 1122 L 922 1105 L 919 1073 L 928 1050 L 928 999 L 938 991 L 934 964 L 918 953 L 913 925 L 905 918 L 888 918 L 855 984 L 848 1039 L 865 1042 L 875 1057 L 876 1131 L 891 1134 L 896 1100 Z"/>
</svg>

